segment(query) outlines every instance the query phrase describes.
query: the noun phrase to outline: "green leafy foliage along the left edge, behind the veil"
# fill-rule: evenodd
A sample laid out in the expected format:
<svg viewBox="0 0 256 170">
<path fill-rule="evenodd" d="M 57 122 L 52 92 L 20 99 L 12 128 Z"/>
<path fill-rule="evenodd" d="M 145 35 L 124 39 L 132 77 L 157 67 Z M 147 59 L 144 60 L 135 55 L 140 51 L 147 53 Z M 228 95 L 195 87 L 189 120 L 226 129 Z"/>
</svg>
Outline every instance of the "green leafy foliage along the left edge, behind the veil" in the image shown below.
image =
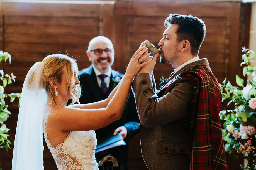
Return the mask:
<svg viewBox="0 0 256 170">
<path fill-rule="evenodd" d="M 0 62 L 1 61 L 6 61 L 9 59 L 9 63 L 11 64 L 11 55 L 8 52 L 3 52 L 0 51 Z M 11 112 L 8 111 L 8 105 L 5 104 L 5 98 L 10 97 L 10 101 L 13 102 L 16 97 L 19 99 L 20 103 L 20 93 L 11 93 L 11 94 L 5 94 L 4 93 L 4 88 L 6 87 L 7 84 L 11 84 L 12 81 L 15 82 L 16 76 L 11 73 L 11 76 L 9 74 L 4 74 L 3 70 L 0 70 L 0 79 L 3 82 L 3 86 L 0 85 L 0 148 L 6 148 L 6 152 L 8 149 L 11 149 L 10 144 L 11 142 L 8 140 L 9 135 L 7 132 L 10 130 L 9 128 L 6 127 L 4 124 L 4 121 L 6 121 L 11 115 Z M 0 169 L 1 170 L 1 169 Z"/>
</svg>

